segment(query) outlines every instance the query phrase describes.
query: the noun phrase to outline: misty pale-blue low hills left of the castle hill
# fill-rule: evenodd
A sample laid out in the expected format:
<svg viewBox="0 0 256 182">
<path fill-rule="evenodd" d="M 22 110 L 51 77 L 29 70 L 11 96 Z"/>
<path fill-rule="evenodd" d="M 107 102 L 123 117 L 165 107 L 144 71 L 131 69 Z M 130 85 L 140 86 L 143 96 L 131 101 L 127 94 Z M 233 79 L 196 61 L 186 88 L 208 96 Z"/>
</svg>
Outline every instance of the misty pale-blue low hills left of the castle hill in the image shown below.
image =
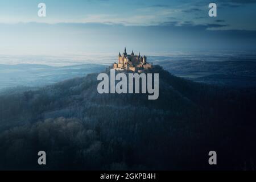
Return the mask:
<svg viewBox="0 0 256 182">
<path fill-rule="evenodd" d="M 46 86 L 56 82 L 97 73 L 106 66 L 99 64 L 51 67 L 40 64 L 0 64 L 0 94 L 16 86 Z"/>
</svg>

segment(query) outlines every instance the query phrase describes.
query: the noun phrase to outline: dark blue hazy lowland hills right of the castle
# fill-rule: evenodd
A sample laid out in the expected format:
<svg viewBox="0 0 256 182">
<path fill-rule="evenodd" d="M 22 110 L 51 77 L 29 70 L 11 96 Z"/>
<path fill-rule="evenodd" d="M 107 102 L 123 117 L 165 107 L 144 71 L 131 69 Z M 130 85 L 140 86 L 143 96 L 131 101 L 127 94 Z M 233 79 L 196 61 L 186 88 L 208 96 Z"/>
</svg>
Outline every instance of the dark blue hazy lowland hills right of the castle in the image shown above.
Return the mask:
<svg viewBox="0 0 256 182">
<path fill-rule="evenodd" d="M 211 55 L 209 61 L 204 56 L 187 59 L 150 57 L 149 61 L 161 65 L 175 76 L 189 80 L 220 86 L 256 88 L 256 61 L 255 58 L 250 59 L 250 56 L 220 58 Z"/>
</svg>

